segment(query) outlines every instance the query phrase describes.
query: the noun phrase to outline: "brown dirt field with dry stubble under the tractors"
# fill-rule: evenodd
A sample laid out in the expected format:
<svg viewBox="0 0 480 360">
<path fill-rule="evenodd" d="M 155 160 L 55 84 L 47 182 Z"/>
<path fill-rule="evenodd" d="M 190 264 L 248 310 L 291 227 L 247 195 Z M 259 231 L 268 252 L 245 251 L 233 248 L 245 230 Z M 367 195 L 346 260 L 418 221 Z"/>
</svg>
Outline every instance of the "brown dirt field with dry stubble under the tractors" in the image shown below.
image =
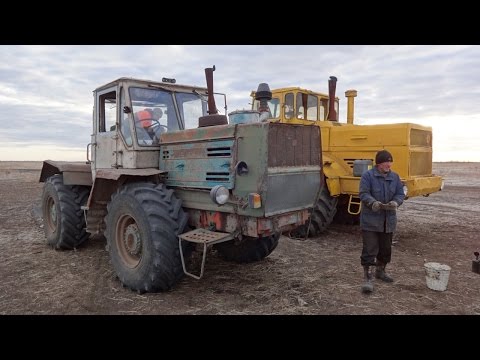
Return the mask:
<svg viewBox="0 0 480 360">
<path fill-rule="evenodd" d="M 360 292 L 357 226 L 332 226 L 305 241 L 282 236 L 264 261 L 234 264 L 214 250 L 201 280 L 185 277 L 166 293 L 124 289 L 105 240 L 75 251 L 47 246 L 38 209 L 39 162 L 0 162 L 0 314 L 480 314 L 480 163 L 435 163 L 445 189 L 407 200 L 389 273 Z M 444 292 L 427 288 L 424 261 L 449 265 Z"/>
</svg>

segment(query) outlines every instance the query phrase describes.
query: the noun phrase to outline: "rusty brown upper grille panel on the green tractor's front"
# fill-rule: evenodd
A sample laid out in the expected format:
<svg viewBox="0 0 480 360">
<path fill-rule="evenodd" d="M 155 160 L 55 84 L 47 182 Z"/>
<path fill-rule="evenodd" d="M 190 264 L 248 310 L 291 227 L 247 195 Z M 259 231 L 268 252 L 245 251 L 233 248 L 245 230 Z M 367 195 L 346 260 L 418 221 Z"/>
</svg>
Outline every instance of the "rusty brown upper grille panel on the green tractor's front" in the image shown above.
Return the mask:
<svg viewBox="0 0 480 360">
<path fill-rule="evenodd" d="M 320 165 L 320 132 L 317 126 L 270 124 L 268 166 Z"/>
</svg>

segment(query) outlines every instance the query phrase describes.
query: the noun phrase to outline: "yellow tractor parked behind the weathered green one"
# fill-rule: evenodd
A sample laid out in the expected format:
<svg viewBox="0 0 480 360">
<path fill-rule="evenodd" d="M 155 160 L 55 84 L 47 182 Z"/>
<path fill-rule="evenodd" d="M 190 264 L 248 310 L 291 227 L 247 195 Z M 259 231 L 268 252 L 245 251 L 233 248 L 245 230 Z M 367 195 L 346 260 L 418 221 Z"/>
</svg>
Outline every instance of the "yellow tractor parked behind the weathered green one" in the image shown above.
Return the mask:
<svg viewBox="0 0 480 360">
<path fill-rule="evenodd" d="M 406 198 L 428 196 L 443 188 L 442 177 L 432 173 L 431 127 L 412 123 L 356 125 L 353 123 L 356 90 L 345 92 L 347 119 L 341 123 L 336 82 L 337 78 L 331 76 L 328 95 L 288 87 L 273 89 L 272 99 L 268 101 L 269 122 L 320 127 L 325 185 L 311 212 L 308 233 L 313 236 L 323 232 L 332 221 L 358 224 L 360 177 L 374 165 L 379 150 L 388 149 L 392 153 L 393 170 L 402 179 Z M 249 111 L 260 110 L 255 92 L 252 91 L 251 97 L 252 110 Z"/>
</svg>

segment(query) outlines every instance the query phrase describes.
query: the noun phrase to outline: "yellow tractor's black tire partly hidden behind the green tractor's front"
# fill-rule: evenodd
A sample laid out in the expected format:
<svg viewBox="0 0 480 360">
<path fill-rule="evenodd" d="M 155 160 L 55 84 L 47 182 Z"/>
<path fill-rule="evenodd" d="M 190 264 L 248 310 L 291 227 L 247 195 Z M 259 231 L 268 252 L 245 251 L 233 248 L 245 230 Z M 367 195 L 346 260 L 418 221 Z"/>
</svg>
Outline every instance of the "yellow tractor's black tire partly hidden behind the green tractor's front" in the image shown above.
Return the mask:
<svg viewBox="0 0 480 360">
<path fill-rule="evenodd" d="M 307 235 L 308 226 L 310 226 L 308 231 L 309 237 L 315 237 L 323 233 L 332 223 L 335 213 L 337 212 L 337 201 L 338 199 L 336 197 L 330 196 L 328 188 L 323 186 L 320 190 L 318 201 L 310 215 L 310 219 L 307 220 L 305 225 L 291 231 L 291 235 L 304 238 Z"/>
</svg>

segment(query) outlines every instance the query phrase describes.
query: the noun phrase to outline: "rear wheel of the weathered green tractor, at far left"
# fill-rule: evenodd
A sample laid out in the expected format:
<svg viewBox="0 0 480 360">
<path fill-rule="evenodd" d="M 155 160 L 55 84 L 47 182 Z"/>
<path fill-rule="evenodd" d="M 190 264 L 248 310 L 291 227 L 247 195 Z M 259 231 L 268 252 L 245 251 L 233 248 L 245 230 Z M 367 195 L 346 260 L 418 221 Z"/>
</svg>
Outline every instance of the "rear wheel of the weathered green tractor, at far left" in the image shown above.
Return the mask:
<svg viewBox="0 0 480 360">
<path fill-rule="evenodd" d="M 63 184 L 63 175 L 49 177 L 43 186 L 42 217 L 47 243 L 54 249 L 74 249 L 88 239 L 82 205 L 90 191 L 86 186 Z"/>
</svg>

